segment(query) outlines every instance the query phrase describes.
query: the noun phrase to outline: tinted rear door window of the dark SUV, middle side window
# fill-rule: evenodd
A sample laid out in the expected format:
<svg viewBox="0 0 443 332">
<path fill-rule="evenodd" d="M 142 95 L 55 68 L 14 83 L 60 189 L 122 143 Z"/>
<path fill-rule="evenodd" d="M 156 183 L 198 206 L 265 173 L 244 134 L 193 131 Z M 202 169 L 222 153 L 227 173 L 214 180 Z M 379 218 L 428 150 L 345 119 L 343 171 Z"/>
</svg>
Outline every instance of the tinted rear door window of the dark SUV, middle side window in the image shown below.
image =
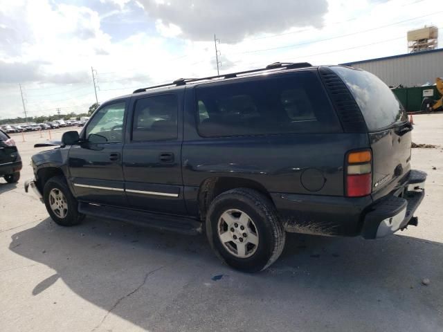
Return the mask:
<svg viewBox="0 0 443 332">
<path fill-rule="evenodd" d="M 177 127 L 175 95 L 156 95 L 136 101 L 132 140 L 174 140 Z"/>
</svg>

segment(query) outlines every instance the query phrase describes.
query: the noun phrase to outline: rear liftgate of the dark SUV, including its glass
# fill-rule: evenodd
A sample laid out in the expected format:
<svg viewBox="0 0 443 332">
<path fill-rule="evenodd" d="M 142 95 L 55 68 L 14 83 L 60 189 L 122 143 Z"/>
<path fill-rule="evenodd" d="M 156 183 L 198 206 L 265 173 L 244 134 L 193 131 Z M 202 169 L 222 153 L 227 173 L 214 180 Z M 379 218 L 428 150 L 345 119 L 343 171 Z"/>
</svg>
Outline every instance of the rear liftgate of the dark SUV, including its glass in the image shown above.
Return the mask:
<svg viewBox="0 0 443 332">
<path fill-rule="evenodd" d="M 345 82 L 365 119 L 372 149 L 372 193 L 378 199 L 406 180 L 413 127 L 404 107 L 379 77 L 356 68 L 331 68 Z"/>
</svg>

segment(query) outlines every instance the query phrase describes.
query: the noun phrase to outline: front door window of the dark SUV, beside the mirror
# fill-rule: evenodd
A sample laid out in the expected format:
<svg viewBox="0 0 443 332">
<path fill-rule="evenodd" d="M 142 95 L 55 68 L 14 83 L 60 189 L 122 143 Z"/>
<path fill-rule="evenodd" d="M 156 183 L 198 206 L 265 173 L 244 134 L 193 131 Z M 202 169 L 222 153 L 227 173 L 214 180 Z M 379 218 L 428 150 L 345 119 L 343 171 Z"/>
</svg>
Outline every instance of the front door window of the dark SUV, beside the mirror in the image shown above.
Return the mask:
<svg viewBox="0 0 443 332">
<path fill-rule="evenodd" d="M 122 142 L 125 102 L 102 107 L 88 123 L 86 138 L 91 143 Z"/>
</svg>

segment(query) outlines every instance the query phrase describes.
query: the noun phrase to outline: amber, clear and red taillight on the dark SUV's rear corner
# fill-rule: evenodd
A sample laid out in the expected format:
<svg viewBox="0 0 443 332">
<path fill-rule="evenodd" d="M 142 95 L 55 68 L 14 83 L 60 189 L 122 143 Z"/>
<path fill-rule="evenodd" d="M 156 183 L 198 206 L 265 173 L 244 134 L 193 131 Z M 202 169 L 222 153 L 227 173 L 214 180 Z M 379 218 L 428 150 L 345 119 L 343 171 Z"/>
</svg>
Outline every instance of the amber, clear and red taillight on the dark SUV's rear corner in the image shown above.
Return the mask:
<svg viewBox="0 0 443 332">
<path fill-rule="evenodd" d="M 352 151 L 346 156 L 346 196 L 361 197 L 371 193 L 372 154 L 371 151 Z"/>
</svg>

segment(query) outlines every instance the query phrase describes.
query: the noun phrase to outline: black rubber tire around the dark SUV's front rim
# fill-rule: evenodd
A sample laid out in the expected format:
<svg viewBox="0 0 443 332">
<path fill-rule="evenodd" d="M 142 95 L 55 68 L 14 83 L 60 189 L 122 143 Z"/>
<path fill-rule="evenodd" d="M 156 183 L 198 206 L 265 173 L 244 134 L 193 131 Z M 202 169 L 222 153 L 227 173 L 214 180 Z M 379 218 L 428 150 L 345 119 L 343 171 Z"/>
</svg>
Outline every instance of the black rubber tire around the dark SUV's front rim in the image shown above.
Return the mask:
<svg viewBox="0 0 443 332">
<path fill-rule="evenodd" d="M 64 216 L 63 218 L 57 216 L 51 208 L 49 194 L 53 189 L 60 190 L 60 192 L 62 192 L 62 194 L 66 198 L 66 203 L 68 206 L 66 209 L 66 216 Z M 78 201 L 72 195 L 71 190 L 69 190 L 64 176 L 54 176 L 53 178 L 50 178 L 48 181 L 46 181 L 43 189 L 43 200 L 44 205 L 46 205 L 46 210 L 48 210 L 48 214 L 51 216 L 53 221 L 57 223 L 57 225 L 78 225 L 84 218 L 83 214 L 78 213 Z"/>
</svg>

